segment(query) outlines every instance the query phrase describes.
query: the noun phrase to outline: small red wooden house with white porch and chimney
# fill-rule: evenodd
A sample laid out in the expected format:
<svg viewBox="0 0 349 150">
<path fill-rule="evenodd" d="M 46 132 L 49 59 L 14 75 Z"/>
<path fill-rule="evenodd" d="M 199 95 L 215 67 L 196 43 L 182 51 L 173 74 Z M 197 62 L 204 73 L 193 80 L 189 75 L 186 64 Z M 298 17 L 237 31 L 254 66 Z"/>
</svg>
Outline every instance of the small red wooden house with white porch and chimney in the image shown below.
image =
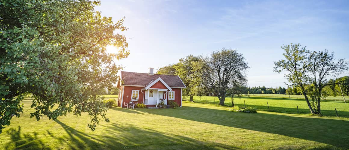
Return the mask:
<svg viewBox="0 0 349 150">
<path fill-rule="evenodd" d="M 147 106 L 155 106 L 164 99 L 177 102 L 182 106 L 182 89 L 186 86 L 179 76 L 154 74 L 154 68 L 149 73 L 121 71 L 117 87 L 119 88 L 118 106 L 136 101 Z"/>
</svg>

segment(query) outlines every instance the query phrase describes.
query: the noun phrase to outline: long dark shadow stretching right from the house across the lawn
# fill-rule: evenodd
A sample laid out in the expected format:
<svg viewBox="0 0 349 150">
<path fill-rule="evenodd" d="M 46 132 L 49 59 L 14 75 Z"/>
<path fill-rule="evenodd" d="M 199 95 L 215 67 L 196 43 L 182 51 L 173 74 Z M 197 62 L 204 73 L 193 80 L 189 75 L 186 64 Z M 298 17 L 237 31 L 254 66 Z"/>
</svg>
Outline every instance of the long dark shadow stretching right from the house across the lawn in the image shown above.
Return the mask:
<svg viewBox="0 0 349 150">
<path fill-rule="evenodd" d="M 172 110 L 140 111 L 203 123 L 296 137 L 326 143 L 344 149 L 349 148 L 349 121 L 346 120 L 269 113 L 250 114 L 190 106 L 183 106 L 176 110 L 177 112 L 173 112 Z"/>
</svg>

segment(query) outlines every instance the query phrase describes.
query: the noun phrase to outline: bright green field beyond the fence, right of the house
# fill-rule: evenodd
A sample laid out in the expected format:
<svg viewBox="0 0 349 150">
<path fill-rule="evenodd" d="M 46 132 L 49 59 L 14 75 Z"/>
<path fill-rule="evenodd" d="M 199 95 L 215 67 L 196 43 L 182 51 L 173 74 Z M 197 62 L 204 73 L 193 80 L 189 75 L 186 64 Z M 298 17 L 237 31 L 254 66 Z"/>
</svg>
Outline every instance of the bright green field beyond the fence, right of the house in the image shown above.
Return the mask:
<svg viewBox="0 0 349 150">
<path fill-rule="evenodd" d="M 282 95 L 282 94 L 251 94 L 250 97 L 234 97 L 235 104 L 240 108 L 253 107 L 260 111 L 275 111 L 292 114 L 310 115 L 309 107 L 303 95 Z M 336 96 L 335 98 L 340 98 Z M 184 98 L 183 98 L 184 99 Z M 187 97 L 187 100 L 189 98 Z M 194 96 L 194 102 L 218 104 L 219 100 L 216 96 Z M 349 100 L 349 97 L 346 98 Z M 225 105 L 231 106 L 231 97 L 225 98 Z M 269 105 L 269 109 L 268 109 Z M 298 106 L 298 111 L 297 111 Z M 349 117 L 349 103 L 345 104 L 343 97 L 341 100 L 334 100 L 333 96 L 329 96 L 326 100 L 321 101 L 321 113 L 327 117 L 335 117 L 336 111 L 339 117 Z"/>
</svg>

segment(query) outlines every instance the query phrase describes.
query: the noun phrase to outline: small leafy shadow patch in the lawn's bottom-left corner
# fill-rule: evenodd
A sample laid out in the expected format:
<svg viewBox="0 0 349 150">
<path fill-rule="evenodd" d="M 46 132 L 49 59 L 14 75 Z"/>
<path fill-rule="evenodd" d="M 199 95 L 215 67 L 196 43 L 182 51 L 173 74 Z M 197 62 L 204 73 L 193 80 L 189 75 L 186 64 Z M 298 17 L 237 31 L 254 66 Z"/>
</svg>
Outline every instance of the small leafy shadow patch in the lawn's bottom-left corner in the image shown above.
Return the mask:
<svg viewBox="0 0 349 150">
<path fill-rule="evenodd" d="M 22 134 L 21 126 L 18 126 L 18 129 L 10 128 L 6 133 L 10 136 L 11 142 L 1 145 L 0 149 L 51 149 L 40 140 L 38 133 Z"/>
</svg>

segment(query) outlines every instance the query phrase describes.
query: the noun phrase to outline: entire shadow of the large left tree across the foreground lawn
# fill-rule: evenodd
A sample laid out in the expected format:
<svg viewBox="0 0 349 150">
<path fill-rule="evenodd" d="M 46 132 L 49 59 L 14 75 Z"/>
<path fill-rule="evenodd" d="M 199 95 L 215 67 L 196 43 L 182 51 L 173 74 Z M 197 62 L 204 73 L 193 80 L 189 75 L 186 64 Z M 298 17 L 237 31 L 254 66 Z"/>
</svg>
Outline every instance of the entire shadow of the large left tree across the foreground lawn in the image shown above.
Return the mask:
<svg viewBox="0 0 349 150">
<path fill-rule="evenodd" d="M 143 129 L 125 123 L 101 125 L 106 127 L 106 132 L 103 133 L 107 134 L 101 134 L 98 131 L 87 134 L 59 120 L 55 122 L 62 126 L 68 136 L 53 134 L 50 130 L 46 130 L 47 134 L 44 134 L 44 138 L 58 141 L 58 145 L 64 149 L 239 149 L 221 143 L 204 142 L 185 136 L 161 133 L 153 129 Z M 23 134 L 21 127 L 18 127 L 18 130 L 9 129 L 7 134 L 11 137 L 11 141 L 4 145 L 5 149 L 51 149 L 37 137 L 36 132 Z M 59 149 L 59 147 L 52 148 Z"/>
</svg>

